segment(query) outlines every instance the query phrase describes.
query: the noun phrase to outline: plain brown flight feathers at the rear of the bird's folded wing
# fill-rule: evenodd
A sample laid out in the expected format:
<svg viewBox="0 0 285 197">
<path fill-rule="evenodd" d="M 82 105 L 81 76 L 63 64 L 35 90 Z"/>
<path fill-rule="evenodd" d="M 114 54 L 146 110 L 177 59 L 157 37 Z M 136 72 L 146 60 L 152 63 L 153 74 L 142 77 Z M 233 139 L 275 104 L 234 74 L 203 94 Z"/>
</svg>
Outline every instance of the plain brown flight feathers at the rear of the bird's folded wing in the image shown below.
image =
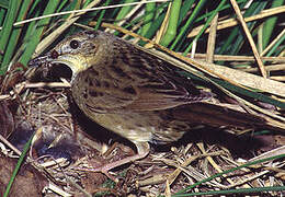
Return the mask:
<svg viewBox="0 0 285 197">
<path fill-rule="evenodd" d="M 194 86 L 190 88 L 186 83 L 183 86 L 173 80 L 173 77 L 166 78 L 164 74 L 160 74 L 160 78 L 156 80 L 134 85 L 134 90 L 137 91 L 137 97 L 125 106 L 125 108 L 134 111 L 158 111 L 186 103 L 201 102 L 210 97 L 209 93 L 200 91 Z"/>
</svg>

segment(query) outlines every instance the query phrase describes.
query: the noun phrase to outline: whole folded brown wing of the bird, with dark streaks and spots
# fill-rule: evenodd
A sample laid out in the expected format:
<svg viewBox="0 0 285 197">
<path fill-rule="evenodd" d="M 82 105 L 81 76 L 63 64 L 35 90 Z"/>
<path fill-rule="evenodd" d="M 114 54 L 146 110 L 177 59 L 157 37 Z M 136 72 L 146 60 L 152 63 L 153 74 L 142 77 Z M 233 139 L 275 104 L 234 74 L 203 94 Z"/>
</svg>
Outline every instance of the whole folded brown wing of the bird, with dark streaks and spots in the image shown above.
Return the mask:
<svg viewBox="0 0 285 197">
<path fill-rule="evenodd" d="M 86 84 L 89 95 L 94 95 L 87 101 L 93 111 L 159 111 L 212 96 L 197 90 L 189 79 L 175 71 L 174 66 L 136 48 L 132 48 L 132 55 L 127 51 L 121 46 L 112 63 L 101 69 L 91 67 L 78 74 L 75 84 Z M 94 77 L 93 72 L 101 73 Z"/>
</svg>

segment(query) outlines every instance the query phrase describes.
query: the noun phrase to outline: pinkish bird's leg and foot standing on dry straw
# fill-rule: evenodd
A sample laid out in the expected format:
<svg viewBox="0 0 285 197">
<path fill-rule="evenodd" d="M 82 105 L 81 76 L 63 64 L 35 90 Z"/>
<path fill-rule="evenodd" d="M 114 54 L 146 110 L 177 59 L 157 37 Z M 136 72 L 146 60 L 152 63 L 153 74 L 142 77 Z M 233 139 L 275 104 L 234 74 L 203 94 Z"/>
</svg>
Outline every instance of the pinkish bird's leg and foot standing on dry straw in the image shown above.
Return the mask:
<svg viewBox="0 0 285 197">
<path fill-rule="evenodd" d="M 89 172 L 101 172 L 101 173 L 105 174 L 107 177 L 110 177 L 111 179 L 114 179 L 112 177 L 112 175 L 109 174 L 110 170 L 115 169 L 115 167 L 121 166 L 121 165 L 124 165 L 124 164 L 129 163 L 129 162 L 134 162 L 136 160 L 142 159 L 142 158 L 148 155 L 149 149 L 150 149 L 148 142 L 135 142 L 135 144 L 136 144 L 136 148 L 137 148 L 137 154 L 135 154 L 135 155 L 124 158 L 123 160 L 118 160 L 118 161 L 105 164 L 103 166 L 100 166 L 100 167 L 88 169 L 88 170 L 87 169 L 80 169 L 80 170 L 89 171 Z"/>
</svg>

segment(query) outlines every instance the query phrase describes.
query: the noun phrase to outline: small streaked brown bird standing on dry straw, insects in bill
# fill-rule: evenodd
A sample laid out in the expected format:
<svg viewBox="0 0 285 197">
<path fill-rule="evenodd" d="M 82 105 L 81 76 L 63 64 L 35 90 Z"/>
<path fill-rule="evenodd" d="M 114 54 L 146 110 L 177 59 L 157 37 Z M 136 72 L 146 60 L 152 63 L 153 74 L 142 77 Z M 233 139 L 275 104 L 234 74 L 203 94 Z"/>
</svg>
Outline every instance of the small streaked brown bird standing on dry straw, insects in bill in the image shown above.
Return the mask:
<svg viewBox="0 0 285 197">
<path fill-rule="evenodd" d="M 93 121 L 132 141 L 137 153 L 98 167 L 107 172 L 148 155 L 149 143 L 179 140 L 196 125 L 251 127 L 263 119 L 203 103 L 215 96 L 197 89 L 178 67 L 113 34 L 81 31 L 30 66 L 64 63 L 71 92 Z"/>
</svg>

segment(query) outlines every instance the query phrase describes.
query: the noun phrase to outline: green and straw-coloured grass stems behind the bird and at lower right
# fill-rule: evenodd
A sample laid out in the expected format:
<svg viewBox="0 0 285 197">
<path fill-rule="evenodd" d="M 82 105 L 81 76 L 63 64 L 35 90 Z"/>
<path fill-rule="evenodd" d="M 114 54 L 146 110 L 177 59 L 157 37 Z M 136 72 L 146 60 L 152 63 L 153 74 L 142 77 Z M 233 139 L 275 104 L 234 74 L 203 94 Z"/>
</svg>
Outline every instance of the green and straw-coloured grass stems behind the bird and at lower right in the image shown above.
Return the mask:
<svg viewBox="0 0 285 197">
<path fill-rule="evenodd" d="M 75 32 L 107 28 L 119 37 L 190 62 L 200 70 L 197 74 L 185 69 L 190 78 L 215 83 L 285 128 L 284 14 L 284 0 L 1 0 L 0 79 L 3 83 L 8 73 L 26 70 L 29 60 Z M 7 99 L 7 91 L 1 89 L 0 101 Z M 278 113 L 264 112 L 256 101 L 270 104 Z M 271 131 L 255 135 L 264 134 Z M 273 160 L 284 154 L 271 157 Z M 284 170 L 280 170 L 284 176 Z M 242 189 L 225 194 L 244 193 Z M 246 193 L 274 189 L 285 188 L 277 184 Z M 221 190 L 200 195 L 217 195 Z"/>
</svg>

